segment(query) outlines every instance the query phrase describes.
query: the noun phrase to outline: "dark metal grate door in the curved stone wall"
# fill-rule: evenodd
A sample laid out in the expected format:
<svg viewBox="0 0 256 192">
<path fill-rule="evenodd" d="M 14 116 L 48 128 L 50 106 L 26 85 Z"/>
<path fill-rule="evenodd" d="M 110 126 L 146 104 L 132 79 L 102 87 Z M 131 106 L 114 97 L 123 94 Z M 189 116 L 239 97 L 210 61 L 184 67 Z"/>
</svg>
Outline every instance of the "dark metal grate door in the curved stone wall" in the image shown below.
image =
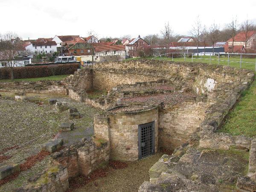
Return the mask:
<svg viewBox="0 0 256 192">
<path fill-rule="evenodd" d="M 154 154 L 154 122 L 141 124 L 138 127 L 139 159 Z"/>
</svg>

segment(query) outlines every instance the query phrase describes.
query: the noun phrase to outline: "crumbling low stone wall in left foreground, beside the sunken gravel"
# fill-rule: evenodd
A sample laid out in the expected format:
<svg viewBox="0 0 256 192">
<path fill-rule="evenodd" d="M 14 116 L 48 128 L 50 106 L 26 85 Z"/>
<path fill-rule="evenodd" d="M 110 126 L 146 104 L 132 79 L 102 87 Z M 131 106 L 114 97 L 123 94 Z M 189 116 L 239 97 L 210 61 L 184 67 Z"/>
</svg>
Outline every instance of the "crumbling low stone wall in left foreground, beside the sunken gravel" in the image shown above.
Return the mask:
<svg viewBox="0 0 256 192">
<path fill-rule="evenodd" d="M 95 139 L 96 140 L 96 139 Z M 29 179 L 29 184 L 17 192 L 54 191 L 64 192 L 69 188 L 69 179 L 80 174 L 89 175 L 102 164 L 108 163 L 110 147 L 100 140 L 82 141 L 51 155 L 52 161 L 44 172 Z"/>
</svg>

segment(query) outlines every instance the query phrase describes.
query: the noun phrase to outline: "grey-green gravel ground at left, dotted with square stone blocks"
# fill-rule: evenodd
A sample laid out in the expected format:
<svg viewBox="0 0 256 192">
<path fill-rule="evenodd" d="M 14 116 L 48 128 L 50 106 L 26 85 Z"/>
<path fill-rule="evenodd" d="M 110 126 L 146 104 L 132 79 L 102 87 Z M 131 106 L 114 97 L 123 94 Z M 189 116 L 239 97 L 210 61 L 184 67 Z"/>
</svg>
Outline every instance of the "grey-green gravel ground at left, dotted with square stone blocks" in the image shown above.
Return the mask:
<svg viewBox="0 0 256 192">
<path fill-rule="evenodd" d="M 52 95 L 32 94 L 34 102 L 15 101 L 13 98 L 4 99 L 4 96 L 13 96 L 8 93 L 0 93 L 0 152 L 2 155 L 12 156 L 9 161 L 14 163 L 24 163 L 27 157 L 41 151 L 40 145 L 47 142 L 58 132 L 61 122 L 74 122 L 75 127 L 93 127 L 93 116 L 100 110 L 92 108 L 84 103 L 76 102 L 68 97 L 57 97 Z M 49 104 L 38 105 L 38 99 L 45 102 L 45 99 L 56 98 L 58 101 L 68 102 L 68 105 L 75 107 L 80 112 L 82 118 L 68 119 L 68 111 L 57 112 L 55 106 Z M 6 148 L 14 148 L 6 151 Z M 48 157 L 47 157 L 48 158 Z M 21 172 L 17 179 L 0 186 L 0 191 L 12 191 L 14 188 L 22 186 L 26 180 L 36 172 L 41 172 L 47 166 L 48 160 L 44 159 L 36 166 L 27 171 Z"/>
</svg>

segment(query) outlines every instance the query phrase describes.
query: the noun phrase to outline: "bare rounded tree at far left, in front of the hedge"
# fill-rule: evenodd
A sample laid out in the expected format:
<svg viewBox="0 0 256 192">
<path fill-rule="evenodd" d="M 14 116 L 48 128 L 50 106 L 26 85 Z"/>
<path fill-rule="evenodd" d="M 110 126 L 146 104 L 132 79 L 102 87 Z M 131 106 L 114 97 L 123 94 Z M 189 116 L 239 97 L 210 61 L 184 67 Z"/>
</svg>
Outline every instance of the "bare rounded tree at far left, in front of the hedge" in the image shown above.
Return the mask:
<svg viewBox="0 0 256 192">
<path fill-rule="evenodd" d="M 0 34 L 0 61 L 5 62 L 11 70 L 11 78 L 14 79 L 13 69 L 19 66 L 16 57 L 23 51 L 20 37 L 13 33 Z"/>
</svg>

